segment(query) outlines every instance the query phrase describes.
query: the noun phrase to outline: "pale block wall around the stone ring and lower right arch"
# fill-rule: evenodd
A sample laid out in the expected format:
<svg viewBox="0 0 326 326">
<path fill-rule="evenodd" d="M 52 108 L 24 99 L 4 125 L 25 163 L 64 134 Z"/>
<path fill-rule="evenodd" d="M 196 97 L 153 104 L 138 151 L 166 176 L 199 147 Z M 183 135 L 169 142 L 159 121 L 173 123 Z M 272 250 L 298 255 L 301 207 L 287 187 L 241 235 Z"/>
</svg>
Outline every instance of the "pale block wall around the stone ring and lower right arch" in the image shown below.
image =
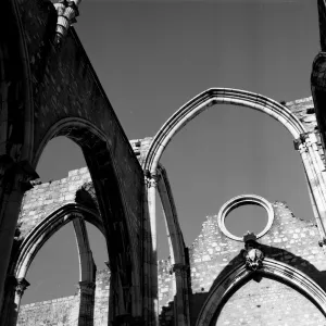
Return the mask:
<svg viewBox="0 0 326 326">
<path fill-rule="evenodd" d="M 262 251 L 267 258 L 302 271 L 326 290 L 326 260 L 318 244 L 315 223 L 296 217 L 285 202 L 274 202 L 273 209 L 274 223 L 267 234 L 259 239 Z M 229 239 L 220 230 L 216 215 L 208 216 L 201 234 L 189 249 L 191 325 L 195 325 L 212 285 L 243 261 L 242 249 L 242 242 Z M 172 277 L 170 262 L 160 261 L 161 325 L 173 325 L 167 313 L 173 312 Z M 296 315 L 291 312 L 296 312 Z M 274 318 L 275 315 L 279 318 Z M 326 317 L 305 297 L 287 285 L 267 278 L 260 283 L 251 280 L 237 290 L 222 309 L 216 325 L 251 325 L 253 318 L 254 324 L 261 326 L 326 325 Z"/>
</svg>

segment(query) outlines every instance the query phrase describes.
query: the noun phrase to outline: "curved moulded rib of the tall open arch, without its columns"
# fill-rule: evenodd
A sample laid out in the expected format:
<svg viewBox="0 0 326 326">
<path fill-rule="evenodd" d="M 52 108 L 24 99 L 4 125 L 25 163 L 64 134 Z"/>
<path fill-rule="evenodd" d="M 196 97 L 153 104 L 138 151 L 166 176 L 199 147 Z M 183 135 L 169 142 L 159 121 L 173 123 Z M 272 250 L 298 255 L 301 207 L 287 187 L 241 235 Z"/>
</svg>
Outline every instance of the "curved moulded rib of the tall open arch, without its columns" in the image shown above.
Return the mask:
<svg viewBox="0 0 326 326">
<path fill-rule="evenodd" d="M 173 136 L 196 115 L 216 103 L 236 104 L 264 112 L 279 121 L 294 139 L 299 138 L 300 134 L 306 133 L 302 123 L 286 106 L 275 100 L 246 90 L 210 88 L 183 105 L 161 127 L 147 153 L 145 171 L 155 174 L 158 162 Z"/>
</svg>

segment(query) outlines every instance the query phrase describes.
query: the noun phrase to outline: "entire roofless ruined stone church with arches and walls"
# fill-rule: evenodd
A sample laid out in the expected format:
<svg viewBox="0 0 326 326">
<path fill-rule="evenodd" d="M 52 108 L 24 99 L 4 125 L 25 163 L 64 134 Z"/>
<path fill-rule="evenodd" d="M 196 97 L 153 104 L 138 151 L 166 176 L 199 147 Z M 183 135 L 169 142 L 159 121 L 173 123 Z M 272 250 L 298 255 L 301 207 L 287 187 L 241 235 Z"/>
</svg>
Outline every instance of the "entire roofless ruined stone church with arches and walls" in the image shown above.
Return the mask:
<svg viewBox="0 0 326 326">
<path fill-rule="evenodd" d="M 1 3 L 0 326 L 326 325 L 325 1 L 317 1 L 321 51 L 312 58 L 312 97 L 278 102 L 210 88 L 155 135 L 135 140 L 127 139 L 71 26 L 79 2 Z M 289 131 L 306 177 L 312 221 L 294 216 L 284 201 L 239 193 L 185 246 L 160 159 L 177 131 L 221 103 L 261 111 Z M 87 167 L 42 184 L 35 170 L 58 136 L 82 148 Z M 156 193 L 170 246 L 163 261 L 156 256 Z M 267 224 L 238 237 L 225 218 L 246 204 L 262 206 Z M 96 269 L 86 222 L 105 238 L 104 271 Z M 78 292 L 22 305 L 34 258 L 67 223 L 78 247 Z"/>
</svg>

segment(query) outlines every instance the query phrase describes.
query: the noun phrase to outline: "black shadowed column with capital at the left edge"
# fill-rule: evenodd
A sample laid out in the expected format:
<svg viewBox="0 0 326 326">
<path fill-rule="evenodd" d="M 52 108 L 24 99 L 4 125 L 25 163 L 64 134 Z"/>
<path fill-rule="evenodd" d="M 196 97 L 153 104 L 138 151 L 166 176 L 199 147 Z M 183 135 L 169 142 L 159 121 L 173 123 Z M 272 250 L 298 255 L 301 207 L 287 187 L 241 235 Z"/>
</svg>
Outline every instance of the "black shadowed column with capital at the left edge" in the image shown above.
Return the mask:
<svg viewBox="0 0 326 326">
<path fill-rule="evenodd" d="M 37 173 L 27 161 L 14 162 L 9 155 L 0 156 L 0 311 L 23 196 L 33 188 L 29 181 L 36 178 Z"/>
</svg>

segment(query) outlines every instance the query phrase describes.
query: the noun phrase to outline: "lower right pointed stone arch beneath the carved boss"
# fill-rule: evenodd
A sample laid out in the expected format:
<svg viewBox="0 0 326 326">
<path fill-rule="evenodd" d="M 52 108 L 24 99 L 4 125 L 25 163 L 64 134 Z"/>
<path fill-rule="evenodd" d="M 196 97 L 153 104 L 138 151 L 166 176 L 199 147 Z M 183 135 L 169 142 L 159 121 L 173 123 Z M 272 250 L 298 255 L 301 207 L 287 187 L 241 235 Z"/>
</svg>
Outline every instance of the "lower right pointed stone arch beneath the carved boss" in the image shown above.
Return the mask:
<svg viewBox="0 0 326 326">
<path fill-rule="evenodd" d="M 202 305 L 196 326 L 211 325 L 227 296 L 243 285 L 246 280 L 252 278 L 255 273 L 268 276 L 275 280 L 278 279 L 302 292 L 326 316 L 326 293 L 313 279 L 292 266 L 265 258 L 261 269 L 252 272 L 247 269 L 244 264 L 241 263 L 216 283 Z"/>
</svg>

